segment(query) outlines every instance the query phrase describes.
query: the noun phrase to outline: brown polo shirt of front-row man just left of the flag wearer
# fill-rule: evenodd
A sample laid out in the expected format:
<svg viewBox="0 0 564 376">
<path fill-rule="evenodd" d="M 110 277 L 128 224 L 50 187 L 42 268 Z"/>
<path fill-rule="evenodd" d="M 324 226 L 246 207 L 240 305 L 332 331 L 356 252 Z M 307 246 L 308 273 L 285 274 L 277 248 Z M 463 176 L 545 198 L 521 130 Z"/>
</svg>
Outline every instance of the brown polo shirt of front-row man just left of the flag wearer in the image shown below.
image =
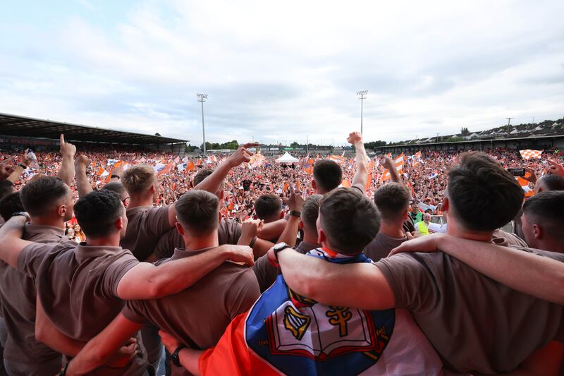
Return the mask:
<svg viewBox="0 0 564 376">
<path fill-rule="evenodd" d="M 197 251 L 174 250 L 169 260 L 192 257 Z M 247 267 L 224 262 L 190 288 L 164 298 L 128 301 L 123 315 L 139 324 L 152 323 L 190 348 L 205 349 L 217 344 L 231 320 L 247 312 L 259 297 L 255 274 Z M 188 375 L 173 366 L 173 375 Z"/>
</svg>

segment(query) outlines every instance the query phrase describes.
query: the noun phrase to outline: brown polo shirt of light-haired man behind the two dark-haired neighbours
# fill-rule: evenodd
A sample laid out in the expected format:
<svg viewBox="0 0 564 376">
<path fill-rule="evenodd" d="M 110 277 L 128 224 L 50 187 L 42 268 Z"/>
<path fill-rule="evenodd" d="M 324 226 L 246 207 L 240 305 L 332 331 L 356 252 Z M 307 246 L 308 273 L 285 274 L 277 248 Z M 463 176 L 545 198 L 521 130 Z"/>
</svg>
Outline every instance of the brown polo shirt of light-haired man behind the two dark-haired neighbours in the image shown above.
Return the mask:
<svg viewBox="0 0 564 376">
<path fill-rule="evenodd" d="M 171 229 L 168 223 L 168 206 L 138 206 L 125 211 L 128 217 L 128 228 L 120 245 L 137 257 L 147 260 L 159 242 L 161 236 Z M 176 231 L 176 230 L 174 230 Z"/>
</svg>

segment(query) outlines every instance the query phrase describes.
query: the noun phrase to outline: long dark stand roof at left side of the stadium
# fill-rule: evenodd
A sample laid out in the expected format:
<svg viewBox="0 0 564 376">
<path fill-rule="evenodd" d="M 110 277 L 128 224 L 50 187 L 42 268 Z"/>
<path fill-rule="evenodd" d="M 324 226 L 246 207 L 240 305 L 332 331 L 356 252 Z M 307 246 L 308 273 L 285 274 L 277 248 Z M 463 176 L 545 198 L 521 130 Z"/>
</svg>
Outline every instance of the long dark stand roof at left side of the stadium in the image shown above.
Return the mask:
<svg viewBox="0 0 564 376">
<path fill-rule="evenodd" d="M 34 119 L 25 116 L 0 113 L 0 135 L 59 139 L 61 133 L 64 133 L 66 140 L 82 142 L 116 142 L 135 145 L 178 144 L 188 142 L 188 140 L 179 140 L 178 138 L 112 131 L 106 128 L 80 126 L 78 124 L 62 123 L 60 121 Z"/>
</svg>

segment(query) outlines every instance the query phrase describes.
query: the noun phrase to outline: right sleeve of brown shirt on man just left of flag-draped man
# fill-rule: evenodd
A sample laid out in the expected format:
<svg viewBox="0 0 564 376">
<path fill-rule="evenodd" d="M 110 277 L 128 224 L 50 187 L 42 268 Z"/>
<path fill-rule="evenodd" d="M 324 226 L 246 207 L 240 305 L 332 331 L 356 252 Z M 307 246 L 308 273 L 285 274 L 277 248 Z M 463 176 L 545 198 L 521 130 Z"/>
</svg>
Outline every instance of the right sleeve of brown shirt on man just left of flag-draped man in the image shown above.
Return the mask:
<svg viewBox="0 0 564 376">
<path fill-rule="evenodd" d="M 250 269 L 235 273 L 226 292 L 226 307 L 231 320 L 250 310 L 260 296 L 257 277 Z"/>
</svg>

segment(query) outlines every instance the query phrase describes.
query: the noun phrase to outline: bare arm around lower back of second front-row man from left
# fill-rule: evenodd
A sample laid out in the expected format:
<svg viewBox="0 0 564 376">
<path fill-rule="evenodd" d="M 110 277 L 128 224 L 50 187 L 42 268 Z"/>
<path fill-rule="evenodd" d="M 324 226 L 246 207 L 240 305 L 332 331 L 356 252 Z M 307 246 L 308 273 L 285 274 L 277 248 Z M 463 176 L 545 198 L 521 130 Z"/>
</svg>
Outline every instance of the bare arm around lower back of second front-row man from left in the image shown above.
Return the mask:
<svg viewBox="0 0 564 376">
<path fill-rule="evenodd" d="M 35 305 L 35 338 L 55 351 L 68 356 L 76 356 L 86 344 L 86 342 L 76 341 L 59 332 L 59 329 L 45 315 L 39 296 L 37 296 Z"/>
</svg>

